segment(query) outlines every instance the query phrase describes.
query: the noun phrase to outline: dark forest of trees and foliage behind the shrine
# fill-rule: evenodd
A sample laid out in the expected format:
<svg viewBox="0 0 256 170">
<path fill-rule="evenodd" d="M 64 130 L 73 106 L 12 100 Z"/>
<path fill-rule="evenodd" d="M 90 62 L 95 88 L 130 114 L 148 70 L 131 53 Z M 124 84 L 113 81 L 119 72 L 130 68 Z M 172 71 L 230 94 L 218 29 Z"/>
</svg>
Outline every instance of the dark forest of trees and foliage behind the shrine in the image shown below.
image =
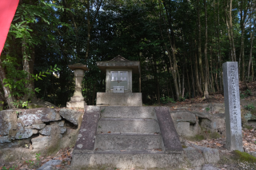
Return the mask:
<svg viewBox="0 0 256 170">
<path fill-rule="evenodd" d="M 255 0 L 20 0 L 0 61 L 0 106 L 66 106 L 74 63 L 88 65 L 87 105 L 105 92 L 96 61 L 140 61 L 145 105 L 222 93 L 222 63 L 254 81 Z M 141 81 L 141 85 L 139 85 Z"/>
</svg>

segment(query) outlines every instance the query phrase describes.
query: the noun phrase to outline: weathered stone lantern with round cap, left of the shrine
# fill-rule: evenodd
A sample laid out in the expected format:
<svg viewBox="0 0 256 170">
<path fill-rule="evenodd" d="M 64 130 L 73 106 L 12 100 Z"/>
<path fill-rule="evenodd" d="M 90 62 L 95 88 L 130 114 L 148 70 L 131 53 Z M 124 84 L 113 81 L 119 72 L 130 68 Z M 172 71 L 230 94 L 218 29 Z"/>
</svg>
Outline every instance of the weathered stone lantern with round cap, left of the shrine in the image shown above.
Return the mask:
<svg viewBox="0 0 256 170">
<path fill-rule="evenodd" d="M 74 70 L 75 88 L 73 97 L 71 97 L 69 102 L 66 102 L 66 107 L 83 109 L 86 102 L 84 97 L 82 97 L 82 78 L 85 76 L 85 71 L 88 71 L 89 69 L 82 63 L 68 65 L 68 67 Z"/>
</svg>

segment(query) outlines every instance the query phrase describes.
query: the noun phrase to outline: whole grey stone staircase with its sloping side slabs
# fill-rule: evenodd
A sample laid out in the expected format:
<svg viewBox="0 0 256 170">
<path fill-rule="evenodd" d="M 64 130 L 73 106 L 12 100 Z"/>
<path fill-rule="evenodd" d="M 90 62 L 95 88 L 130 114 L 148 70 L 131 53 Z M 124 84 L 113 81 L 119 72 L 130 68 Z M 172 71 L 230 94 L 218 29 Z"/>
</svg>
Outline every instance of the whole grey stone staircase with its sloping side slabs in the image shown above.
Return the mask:
<svg viewBox="0 0 256 170">
<path fill-rule="evenodd" d="M 168 108 L 86 106 L 71 167 L 180 168 L 183 158 Z"/>
</svg>

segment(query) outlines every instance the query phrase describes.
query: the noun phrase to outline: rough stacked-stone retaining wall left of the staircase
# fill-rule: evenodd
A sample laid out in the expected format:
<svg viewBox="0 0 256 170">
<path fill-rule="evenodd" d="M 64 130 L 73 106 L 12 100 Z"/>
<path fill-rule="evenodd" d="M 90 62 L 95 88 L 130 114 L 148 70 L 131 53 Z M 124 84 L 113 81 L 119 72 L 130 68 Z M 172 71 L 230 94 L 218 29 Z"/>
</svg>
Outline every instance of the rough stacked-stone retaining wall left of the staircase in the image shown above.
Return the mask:
<svg viewBox="0 0 256 170">
<path fill-rule="evenodd" d="M 49 108 L 1 111 L 0 162 L 8 157 L 6 149 L 13 151 L 19 147 L 50 154 L 74 145 L 83 113 L 83 110 Z"/>
</svg>

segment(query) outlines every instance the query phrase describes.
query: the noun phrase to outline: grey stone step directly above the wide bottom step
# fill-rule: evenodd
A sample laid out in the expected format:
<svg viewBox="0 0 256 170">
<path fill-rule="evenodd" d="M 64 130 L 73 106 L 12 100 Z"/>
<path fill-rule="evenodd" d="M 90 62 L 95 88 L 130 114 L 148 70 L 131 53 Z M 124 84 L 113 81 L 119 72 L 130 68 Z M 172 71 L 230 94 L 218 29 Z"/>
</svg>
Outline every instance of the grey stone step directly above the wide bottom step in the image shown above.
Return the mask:
<svg viewBox="0 0 256 170">
<path fill-rule="evenodd" d="M 98 134 L 94 150 L 97 151 L 145 151 L 162 149 L 160 135 Z"/>
</svg>

